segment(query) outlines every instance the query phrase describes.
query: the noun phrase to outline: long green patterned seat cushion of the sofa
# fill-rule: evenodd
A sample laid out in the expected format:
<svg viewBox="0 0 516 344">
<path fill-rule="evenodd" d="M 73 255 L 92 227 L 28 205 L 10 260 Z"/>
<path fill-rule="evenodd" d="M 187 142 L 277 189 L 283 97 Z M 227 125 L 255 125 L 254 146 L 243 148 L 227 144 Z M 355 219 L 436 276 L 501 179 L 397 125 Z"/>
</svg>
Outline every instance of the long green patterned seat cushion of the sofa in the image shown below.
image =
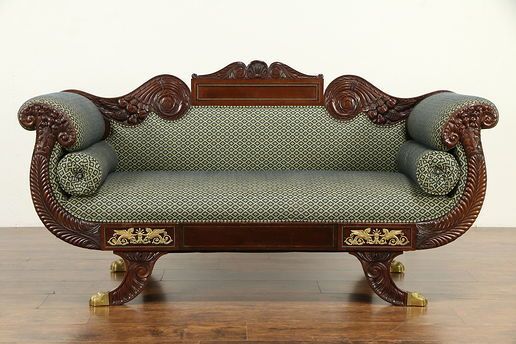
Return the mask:
<svg viewBox="0 0 516 344">
<path fill-rule="evenodd" d="M 413 222 L 455 204 L 404 174 L 356 171 L 133 171 L 63 206 L 98 222 Z"/>
</svg>

